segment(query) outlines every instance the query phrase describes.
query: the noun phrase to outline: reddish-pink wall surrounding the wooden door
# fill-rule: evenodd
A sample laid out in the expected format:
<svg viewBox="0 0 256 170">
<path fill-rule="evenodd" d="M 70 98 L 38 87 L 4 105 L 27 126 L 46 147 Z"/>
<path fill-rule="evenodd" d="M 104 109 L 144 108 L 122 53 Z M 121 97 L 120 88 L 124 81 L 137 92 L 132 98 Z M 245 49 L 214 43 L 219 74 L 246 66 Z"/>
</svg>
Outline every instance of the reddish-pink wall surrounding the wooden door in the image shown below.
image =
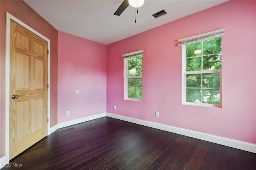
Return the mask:
<svg viewBox="0 0 256 170">
<path fill-rule="evenodd" d="M 46 38 L 50 39 L 50 127 L 57 124 L 57 40 L 58 32 L 24 1 L 0 0 L 0 158 L 5 152 L 5 34 L 6 12 L 9 12 Z"/>
</svg>

